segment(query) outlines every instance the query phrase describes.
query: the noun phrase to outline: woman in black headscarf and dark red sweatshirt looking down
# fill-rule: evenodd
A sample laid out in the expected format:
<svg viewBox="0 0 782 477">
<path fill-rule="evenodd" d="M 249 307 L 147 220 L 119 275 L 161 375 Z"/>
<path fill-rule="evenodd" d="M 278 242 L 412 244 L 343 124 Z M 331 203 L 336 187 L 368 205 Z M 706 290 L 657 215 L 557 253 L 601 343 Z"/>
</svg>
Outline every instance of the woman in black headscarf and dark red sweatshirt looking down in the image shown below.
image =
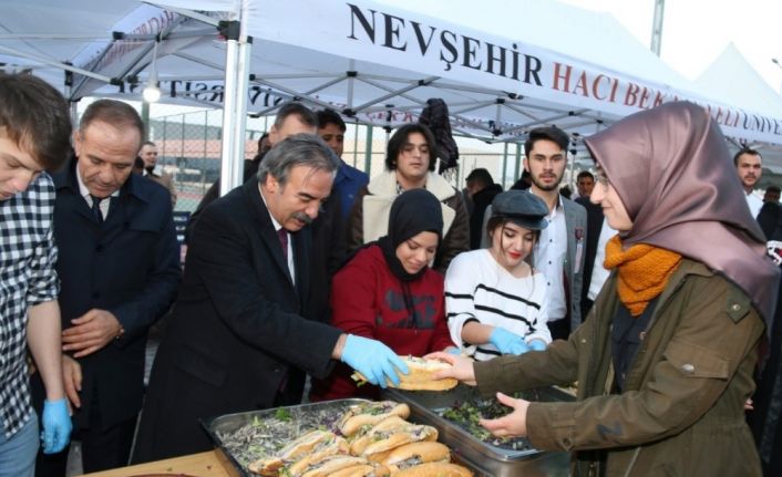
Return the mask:
<svg viewBox="0 0 782 477">
<path fill-rule="evenodd" d="M 443 229 L 440 201 L 426 189 L 411 189 L 393 201 L 388 235 L 368 243 L 340 269 L 331 284 L 337 328 L 385 343 L 402 355 L 422 356 L 453 346 L 444 312 L 443 276 L 429 268 Z M 347 366 L 312 386 L 313 401 L 362 395 Z"/>
</svg>

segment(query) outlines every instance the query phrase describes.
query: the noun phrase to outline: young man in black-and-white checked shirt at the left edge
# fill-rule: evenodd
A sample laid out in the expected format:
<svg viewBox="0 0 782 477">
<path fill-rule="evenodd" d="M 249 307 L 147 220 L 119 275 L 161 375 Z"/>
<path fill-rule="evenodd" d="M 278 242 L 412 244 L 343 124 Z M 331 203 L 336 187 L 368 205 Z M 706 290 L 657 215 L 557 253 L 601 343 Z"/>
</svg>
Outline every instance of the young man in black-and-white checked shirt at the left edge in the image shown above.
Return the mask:
<svg viewBox="0 0 782 477">
<path fill-rule="evenodd" d="M 0 73 L 0 476 L 32 477 L 43 452 L 71 435 L 62 376 L 54 185 L 68 157 L 65 100 L 30 74 Z M 43 428 L 31 405 L 28 346 L 47 392 Z M 39 440 L 40 438 L 40 440 Z"/>
</svg>

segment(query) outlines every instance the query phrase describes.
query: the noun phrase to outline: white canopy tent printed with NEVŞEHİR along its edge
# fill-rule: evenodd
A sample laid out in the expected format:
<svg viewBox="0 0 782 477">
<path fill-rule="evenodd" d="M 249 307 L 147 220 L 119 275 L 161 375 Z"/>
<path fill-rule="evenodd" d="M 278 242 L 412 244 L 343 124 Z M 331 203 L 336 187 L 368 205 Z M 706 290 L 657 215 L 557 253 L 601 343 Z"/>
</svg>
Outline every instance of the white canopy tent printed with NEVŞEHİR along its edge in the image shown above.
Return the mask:
<svg viewBox="0 0 782 477">
<path fill-rule="evenodd" d="M 512 142 L 542 124 L 577 142 L 627 114 L 688 98 L 709 107 L 730 136 L 782 143 L 780 112 L 694 93 L 610 15 L 553 0 L 487 1 L 493 4 L 449 3 L 475 9 L 476 24 L 494 14 L 484 30 L 369 0 L 155 1 L 168 11 L 137 0 L 4 1 L 0 61 L 32 68 L 55 84 L 62 76 L 53 68 L 100 80 L 82 83 L 76 75 L 66 91 L 72 100 L 121 89 L 133 95 L 148 79 L 161 40 L 155 63 L 166 101 L 227 100 L 225 131 L 234 135 L 224 146 L 223 177 L 230 184 L 238 178 L 231 165 L 243 157 L 245 111 L 268 114 L 286 98 L 393 126 L 414 121 L 428 98 L 441 97 L 455 132 Z M 239 22 L 236 40 L 218 39 L 220 19 Z"/>
</svg>

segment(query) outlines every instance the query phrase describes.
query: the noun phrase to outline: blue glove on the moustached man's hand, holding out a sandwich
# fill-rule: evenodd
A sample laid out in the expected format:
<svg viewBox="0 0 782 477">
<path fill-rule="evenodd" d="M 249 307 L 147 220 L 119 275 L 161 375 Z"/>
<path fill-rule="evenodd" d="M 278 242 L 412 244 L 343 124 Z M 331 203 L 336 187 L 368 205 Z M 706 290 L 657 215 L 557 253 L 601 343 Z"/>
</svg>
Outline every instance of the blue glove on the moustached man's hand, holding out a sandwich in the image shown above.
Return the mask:
<svg viewBox="0 0 782 477">
<path fill-rule="evenodd" d="M 363 374 L 372 384 L 385 387 L 388 377 L 394 385 L 399 385 L 397 370 L 408 374 L 408 365 L 399 359 L 397 353 L 380 341 L 348 334 L 348 340 L 342 350 L 342 362 Z"/>
</svg>

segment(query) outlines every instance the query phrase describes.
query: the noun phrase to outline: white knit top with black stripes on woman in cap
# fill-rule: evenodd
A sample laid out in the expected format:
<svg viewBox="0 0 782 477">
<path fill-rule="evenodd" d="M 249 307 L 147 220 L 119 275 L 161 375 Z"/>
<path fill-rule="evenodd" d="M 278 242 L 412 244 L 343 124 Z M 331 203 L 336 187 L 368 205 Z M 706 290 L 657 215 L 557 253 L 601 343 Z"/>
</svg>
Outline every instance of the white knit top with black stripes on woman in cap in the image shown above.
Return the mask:
<svg viewBox="0 0 782 477">
<path fill-rule="evenodd" d="M 491 343 L 469 345 L 462 326 L 469 320 L 501 326 L 524 336 L 551 343 L 547 287 L 543 273 L 516 278 L 494 260 L 488 249 L 456 256 L 445 274 L 445 309 L 451 339 L 477 361 L 501 353 Z"/>
</svg>

